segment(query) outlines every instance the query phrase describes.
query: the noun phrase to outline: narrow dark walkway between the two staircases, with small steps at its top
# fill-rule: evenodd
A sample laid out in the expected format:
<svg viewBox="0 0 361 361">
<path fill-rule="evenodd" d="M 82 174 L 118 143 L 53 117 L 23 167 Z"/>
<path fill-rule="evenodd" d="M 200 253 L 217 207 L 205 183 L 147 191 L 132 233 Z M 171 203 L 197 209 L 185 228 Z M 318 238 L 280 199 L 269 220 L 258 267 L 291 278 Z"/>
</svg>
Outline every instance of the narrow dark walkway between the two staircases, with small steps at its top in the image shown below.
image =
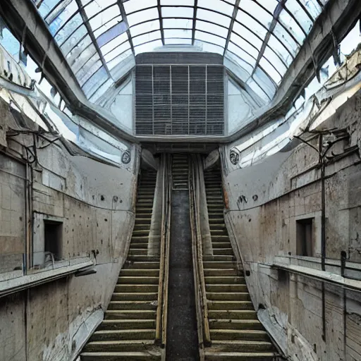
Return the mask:
<svg viewBox="0 0 361 361">
<path fill-rule="evenodd" d="M 197 361 L 199 351 L 189 191 L 186 190 L 188 183 L 179 178 L 188 182 L 188 159 L 176 155 L 173 156 L 173 181 L 176 182 L 172 192 L 166 360 Z"/>
</svg>

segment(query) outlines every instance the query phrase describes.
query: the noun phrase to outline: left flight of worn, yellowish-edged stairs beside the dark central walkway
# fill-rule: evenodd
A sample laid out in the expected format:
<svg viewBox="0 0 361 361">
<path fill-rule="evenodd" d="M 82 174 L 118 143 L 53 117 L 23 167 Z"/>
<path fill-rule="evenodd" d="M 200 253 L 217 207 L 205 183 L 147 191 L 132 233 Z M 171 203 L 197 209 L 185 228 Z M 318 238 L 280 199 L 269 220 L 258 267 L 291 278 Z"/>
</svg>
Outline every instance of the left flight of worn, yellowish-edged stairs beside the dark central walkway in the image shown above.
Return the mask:
<svg viewBox="0 0 361 361">
<path fill-rule="evenodd" d="M 137 190 L 135 226 L 124 268 L 105 318 L 85 345 L 81 361 L 155 361 L 159 257 L 148 257 L 157 173 L 143 172 Z"/>
</svg>

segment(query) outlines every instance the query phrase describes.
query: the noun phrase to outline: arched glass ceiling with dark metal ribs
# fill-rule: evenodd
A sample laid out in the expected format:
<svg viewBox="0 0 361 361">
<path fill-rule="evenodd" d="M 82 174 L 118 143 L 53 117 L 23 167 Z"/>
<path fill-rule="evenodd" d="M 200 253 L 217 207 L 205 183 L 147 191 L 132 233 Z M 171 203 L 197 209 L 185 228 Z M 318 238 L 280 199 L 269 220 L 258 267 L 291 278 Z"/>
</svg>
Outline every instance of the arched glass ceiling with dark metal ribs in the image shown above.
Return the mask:
<svg viewBox="0 0 361 361">
<path fill-rule="evenodd" d="M 221 54 L 269 102 L 328 0 L 32 1 L 92 102 L 166 45 Z"/>
</svg>

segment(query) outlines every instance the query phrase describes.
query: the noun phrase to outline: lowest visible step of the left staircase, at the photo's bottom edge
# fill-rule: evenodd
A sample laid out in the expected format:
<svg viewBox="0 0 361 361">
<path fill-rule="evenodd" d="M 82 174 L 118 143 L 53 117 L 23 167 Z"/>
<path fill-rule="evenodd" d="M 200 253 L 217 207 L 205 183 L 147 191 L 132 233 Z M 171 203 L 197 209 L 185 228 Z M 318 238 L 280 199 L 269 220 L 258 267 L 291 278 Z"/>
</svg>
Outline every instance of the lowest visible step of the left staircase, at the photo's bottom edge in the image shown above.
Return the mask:
<svg viewBox="0 0 361 361">
<path fill-rule="evenodd" d="M 161 359 L 160 351 L 134 351 L 134 352 L 92 352 L 82 353 L 81 361 L 157 361 Z"/>
</svg>

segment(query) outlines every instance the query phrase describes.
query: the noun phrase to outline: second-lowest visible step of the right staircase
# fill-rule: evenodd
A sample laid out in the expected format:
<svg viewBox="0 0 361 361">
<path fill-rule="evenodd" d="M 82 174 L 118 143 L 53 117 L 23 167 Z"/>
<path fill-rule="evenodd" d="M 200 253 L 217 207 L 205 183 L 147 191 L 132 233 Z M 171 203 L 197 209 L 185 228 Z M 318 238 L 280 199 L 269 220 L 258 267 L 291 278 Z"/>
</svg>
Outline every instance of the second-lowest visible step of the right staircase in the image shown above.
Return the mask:
<svg viewBox="0 0 361 361">
<path fill-rule="evenodd" d="M 274 351 L 274 345 L 267 341 L 213 341 L 209 351 L 214 352 L 243 352 L 243 353 L 262 353 Z"/>
</svg>

